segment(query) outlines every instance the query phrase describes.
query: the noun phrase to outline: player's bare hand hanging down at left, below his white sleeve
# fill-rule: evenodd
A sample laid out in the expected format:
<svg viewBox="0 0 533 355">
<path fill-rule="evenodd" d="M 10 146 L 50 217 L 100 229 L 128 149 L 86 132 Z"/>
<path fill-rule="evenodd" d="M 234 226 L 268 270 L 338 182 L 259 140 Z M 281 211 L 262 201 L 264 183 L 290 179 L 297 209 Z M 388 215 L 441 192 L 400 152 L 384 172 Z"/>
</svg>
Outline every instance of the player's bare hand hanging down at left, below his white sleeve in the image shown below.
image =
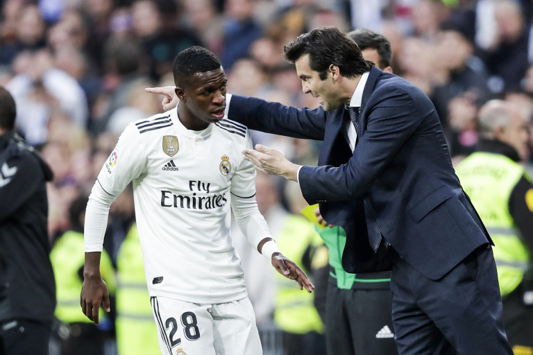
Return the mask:
<svg viewBox="0 0 533 355">
<path fill-rule="evenodd" d="M 81 286 L 80 306 L 87 318 L 96 324 L 99 324 L 98 312 L 101 304 L 106 312 L 111 311 L 108 285 L 100 276 L 85 277 Z"/>
</svg>

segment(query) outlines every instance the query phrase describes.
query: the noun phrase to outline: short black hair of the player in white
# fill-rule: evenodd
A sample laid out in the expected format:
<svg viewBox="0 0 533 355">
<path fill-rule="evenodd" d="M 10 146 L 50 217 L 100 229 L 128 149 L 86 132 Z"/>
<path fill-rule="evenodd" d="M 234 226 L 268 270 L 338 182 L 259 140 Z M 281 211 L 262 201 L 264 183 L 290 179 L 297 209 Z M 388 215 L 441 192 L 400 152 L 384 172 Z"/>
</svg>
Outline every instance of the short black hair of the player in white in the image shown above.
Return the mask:
<svg viewBox="0 0 533 355">
<path fill-rule="evenodd" d="M 195 73 L 205 73 L 219 69 L 222 66 L 219 58 L 209 49 L 201 46 L 192 46 L 184 51 L 180 51 L 174 59 L 172 73 L 174 73 L 174 83 L 178 87 L 187 85 L 187 80 Z"/>
</svg>

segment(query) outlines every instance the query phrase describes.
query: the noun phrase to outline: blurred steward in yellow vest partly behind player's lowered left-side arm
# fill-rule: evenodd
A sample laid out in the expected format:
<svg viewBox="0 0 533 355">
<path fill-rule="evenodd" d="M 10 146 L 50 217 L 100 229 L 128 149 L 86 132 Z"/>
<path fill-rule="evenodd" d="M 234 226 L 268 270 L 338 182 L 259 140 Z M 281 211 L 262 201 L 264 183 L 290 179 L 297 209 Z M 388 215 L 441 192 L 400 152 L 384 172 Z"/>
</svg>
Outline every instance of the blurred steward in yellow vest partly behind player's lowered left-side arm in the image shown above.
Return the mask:
<svg viewBox="0 0 533 355">
<path fill-rule="evenodd" d="M 71 230 L 60 236 L 50 253 L 56 277 L 56 318 L 68 325 L 69 331 L 60 339 L 61 355 L 103 354 L 104 331 L 112 329 L 112 321 L 100 309 L 101 322 L 97 326 L 80 311 L 80 291 L 83 283 L 83 220 L 87 198 L 77 198 L 69 207 Z M 115 270 L 105 250 L 101 254 L 100 273 L 115 293 Z"/>
</svg>

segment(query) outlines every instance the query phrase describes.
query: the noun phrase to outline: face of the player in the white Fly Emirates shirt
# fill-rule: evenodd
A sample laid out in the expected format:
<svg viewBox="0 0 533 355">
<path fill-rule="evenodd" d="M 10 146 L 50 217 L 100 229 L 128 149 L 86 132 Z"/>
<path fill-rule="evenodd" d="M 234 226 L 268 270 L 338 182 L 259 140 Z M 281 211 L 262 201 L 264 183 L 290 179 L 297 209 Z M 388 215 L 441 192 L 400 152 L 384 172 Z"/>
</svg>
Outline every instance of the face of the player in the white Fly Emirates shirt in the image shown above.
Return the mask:
<svg viewBox="0 0 533 355">
<path fill-rule="evenodd" d="M 204 123 L 214 123 L 223 119 L 227 83 L 228 79 L 222 67 L 194 73 L 183 92 L 183 101 L 194 119 Z"/>
</svg>

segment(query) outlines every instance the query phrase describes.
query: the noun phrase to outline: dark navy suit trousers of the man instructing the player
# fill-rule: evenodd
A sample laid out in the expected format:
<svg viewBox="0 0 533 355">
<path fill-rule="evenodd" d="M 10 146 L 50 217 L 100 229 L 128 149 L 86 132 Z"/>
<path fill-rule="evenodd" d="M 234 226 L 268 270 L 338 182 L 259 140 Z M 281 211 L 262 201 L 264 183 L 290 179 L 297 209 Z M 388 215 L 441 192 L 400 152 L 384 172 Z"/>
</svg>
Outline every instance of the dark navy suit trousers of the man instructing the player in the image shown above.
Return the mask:
<svg viewBox="0 0 533 355">
<path fill-rule="evenodd" d="M 477 248 L 437 281 L 398 257 L 391 291 L 400 355 L 513 354 L 491 248 Z"/>
</svg>

